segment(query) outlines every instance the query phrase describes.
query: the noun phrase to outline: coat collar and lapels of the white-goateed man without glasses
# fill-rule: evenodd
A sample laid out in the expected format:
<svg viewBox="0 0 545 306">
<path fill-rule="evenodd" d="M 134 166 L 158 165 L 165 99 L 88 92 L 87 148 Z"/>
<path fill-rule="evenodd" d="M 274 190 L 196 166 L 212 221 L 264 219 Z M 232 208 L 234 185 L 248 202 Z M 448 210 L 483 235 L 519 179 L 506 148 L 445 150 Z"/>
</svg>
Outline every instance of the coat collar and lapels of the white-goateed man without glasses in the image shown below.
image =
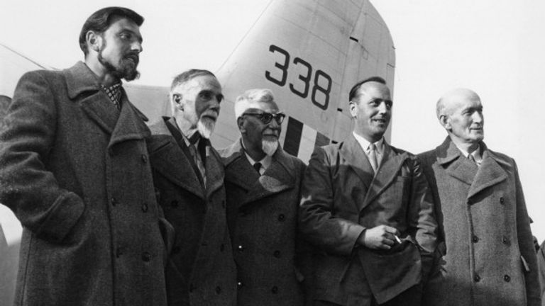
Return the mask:
<svg viewBox="0 0 545 306">
<path fill-rule="evenodd" d="M 224 185 L 224 167 L 217 153 L 211 147 L 209 140 L 201 140 L 207 141 L 207 188 L 204 190 L 189 159 L 168 130 L 165 120 L 170 120 L 170 118 L 163 117 L 150 125 L 153 137 L 151 137 L 149 149 L 153 168 L 172 183 L 206 200 L 208 196 Z"/>
</svg>

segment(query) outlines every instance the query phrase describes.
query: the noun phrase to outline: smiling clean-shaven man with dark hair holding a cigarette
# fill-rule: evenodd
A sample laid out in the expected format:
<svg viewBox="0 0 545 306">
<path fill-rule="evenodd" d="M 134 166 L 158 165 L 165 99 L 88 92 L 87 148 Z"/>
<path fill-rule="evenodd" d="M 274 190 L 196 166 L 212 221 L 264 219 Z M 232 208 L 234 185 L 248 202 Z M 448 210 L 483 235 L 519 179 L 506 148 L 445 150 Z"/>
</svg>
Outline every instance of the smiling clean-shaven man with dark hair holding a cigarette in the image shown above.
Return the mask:
<svg viewBox="0 0 545 306">
<path fill-rule="evenodd" d="M 384 79 L 358 82 L 352 135 L 310 159 L 299 228 L 318 249 L 315 305 L 420 305 L 436 222 L 416 158 L 384 140 L 391 112 Z"/>
</svg>

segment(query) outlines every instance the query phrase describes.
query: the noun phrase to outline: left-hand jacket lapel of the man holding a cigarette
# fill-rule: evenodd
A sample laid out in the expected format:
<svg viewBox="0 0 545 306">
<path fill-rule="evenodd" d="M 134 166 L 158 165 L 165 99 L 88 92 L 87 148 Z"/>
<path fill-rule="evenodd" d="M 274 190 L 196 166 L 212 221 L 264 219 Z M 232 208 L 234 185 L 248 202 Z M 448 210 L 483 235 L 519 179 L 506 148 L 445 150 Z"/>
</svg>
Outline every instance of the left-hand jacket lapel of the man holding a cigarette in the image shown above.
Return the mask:
<svg viewBox="0 0 545 306">
<path fill-rule="evenodd" d="M 356 172 L 365 188 L 369 189 L 374 176 L 373 167 L 354 135 L 350 134 L 339 150 L 339 154 L 346 161 L 346 164 Z"/>
</svg>

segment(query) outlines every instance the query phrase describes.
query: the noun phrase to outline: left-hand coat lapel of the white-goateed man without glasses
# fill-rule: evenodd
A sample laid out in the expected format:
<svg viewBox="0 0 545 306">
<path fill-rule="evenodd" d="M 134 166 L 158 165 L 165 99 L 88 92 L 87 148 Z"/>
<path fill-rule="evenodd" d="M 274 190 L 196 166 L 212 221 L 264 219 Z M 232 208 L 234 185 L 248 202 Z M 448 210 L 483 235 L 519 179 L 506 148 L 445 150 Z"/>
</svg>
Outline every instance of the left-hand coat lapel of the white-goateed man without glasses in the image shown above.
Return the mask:
<svg viewBox="0 0 545 306">
<path fill-rule="evenodd" d="M 194 173 L 185 153 L 170 134 L 165 121 L 160 120 L 150 125 L 150 130 L 152 137 L 149 143 L 149 150 L 153 169 L 163 174 L 165 178 L 177 186 L 184 188 L 195 196 L 205 199 L 204 189 L 197 178 L 197 174 Z M 217 176 L 219 175 L 216 167 L 217 165 L 211 165 L 214 182 L 217 181 Z M 216 186 L 216 183 L 214 183 L 214 186 Z"/>
</svg>

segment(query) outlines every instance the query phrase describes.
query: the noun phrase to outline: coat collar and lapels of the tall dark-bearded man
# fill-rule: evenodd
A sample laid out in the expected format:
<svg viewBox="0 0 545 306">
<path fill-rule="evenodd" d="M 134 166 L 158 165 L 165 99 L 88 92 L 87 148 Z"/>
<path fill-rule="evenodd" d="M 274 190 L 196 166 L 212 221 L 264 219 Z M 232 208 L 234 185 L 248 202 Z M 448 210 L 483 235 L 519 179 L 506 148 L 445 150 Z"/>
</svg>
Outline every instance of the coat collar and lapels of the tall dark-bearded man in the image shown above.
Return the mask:
<svg viewBox="0 0 545 306">
<path fill-rule="evenodd" d="M 118 113 L 104 91 L 97 76 L 84 62 L 65 69 L 68 96 L 81 106 L 91 120 L 111 134 L 108 147 L 126 140 L 149 137 L 150 131 L 143 121 L 148 120 L 128 101 L 123 89 L 121 111 Z M 79 97 L 79 98 L 77 98 Z"/>
</svg>

